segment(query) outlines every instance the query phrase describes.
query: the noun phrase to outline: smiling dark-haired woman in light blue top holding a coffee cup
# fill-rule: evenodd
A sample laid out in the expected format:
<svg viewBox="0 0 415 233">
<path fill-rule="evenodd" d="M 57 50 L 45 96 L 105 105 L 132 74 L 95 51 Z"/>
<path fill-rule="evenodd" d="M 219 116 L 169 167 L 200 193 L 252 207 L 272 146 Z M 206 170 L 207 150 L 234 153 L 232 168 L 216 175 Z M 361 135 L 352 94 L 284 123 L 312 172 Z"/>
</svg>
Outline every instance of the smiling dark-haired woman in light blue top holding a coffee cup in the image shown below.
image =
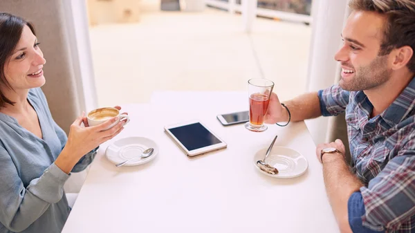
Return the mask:
<svg viewBox="0 0 415 233">
<path fill-rule="evenodd" d="M 71 211 L 63 189 L 71 171 L 85 169 L 97 147 L 123 129 L 120 122 L 103 131 L 115 118 L 88 127 L 82 115 L 66 137 L 40 88 L 45 63 L 33 26 L 0 13 L 0 233 L 61 232 Z"/>
</svg>

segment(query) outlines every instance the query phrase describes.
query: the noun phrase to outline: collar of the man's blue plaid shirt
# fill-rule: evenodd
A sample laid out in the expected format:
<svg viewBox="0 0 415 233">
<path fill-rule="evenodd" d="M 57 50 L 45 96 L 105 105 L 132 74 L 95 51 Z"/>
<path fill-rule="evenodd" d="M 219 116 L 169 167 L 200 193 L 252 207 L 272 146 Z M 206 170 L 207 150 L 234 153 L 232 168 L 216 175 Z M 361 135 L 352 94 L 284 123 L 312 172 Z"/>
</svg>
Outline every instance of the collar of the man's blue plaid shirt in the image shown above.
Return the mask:
<svg viewBox="0 0 415 233">
<path fill-rule="evenodd" d="M 396 126 L 399 122 L 405 120 L 407 115 L 412 111 L 415 111 L 415 77 L 409 82 L 407 87 L 400 93 L 394 102 L 379 116 L 376 116 L 370 121 L 376 122 L 381 118 L 384 122 L 382 127 L 385 129 L 391 129 Z M 369 119 L 369 115 L 373 110 L 374 106 L 367 98 L 367 95 L 363 91 L 358 91 L 354 97 L 354 101 L 359 106 L 362 116 L 366 116 Z"/>
</svg>

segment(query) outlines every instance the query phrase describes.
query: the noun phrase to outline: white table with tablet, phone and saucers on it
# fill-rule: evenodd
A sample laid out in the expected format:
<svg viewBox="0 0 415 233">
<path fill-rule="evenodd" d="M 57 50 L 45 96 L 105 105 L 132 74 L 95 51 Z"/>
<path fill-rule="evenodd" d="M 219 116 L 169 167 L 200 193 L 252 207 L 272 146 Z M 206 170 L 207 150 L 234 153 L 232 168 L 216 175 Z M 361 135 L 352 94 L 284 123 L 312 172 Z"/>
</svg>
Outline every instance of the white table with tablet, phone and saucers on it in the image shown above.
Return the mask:
<svg viewBox="0 0 415 233">
<path fill-rule="evenodd" d="M 160 152 L 145 165 L 117 168 L 104 156 L 108 142 L 102 145 L 63 232 L 339 232 L 304 122 L 254 133 L 216 120 L 247 104 L 244 92 L 159 92 L 150 104 L 123 105 L 131 122 L 113 140 L 145 136 Z M 192 119 L 228 148 L 187 158 L 163 127 Z M 255 169 L 253 156 L 275 134 L 276 146 L 307 158 L 306 174 L 282 180 Z"/>
</svg>

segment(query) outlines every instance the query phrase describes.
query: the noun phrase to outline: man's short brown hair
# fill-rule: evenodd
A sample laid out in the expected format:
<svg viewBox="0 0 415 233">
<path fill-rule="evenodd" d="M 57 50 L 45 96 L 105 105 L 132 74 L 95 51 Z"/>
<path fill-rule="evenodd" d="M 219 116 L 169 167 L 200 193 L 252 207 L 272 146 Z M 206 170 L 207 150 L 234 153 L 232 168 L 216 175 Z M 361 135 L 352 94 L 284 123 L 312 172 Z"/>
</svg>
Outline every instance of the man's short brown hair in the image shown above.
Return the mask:
<svg viewBox="0 0 415 233">
<path fill-rule="evenodd" d="M 415 53 L 415 0 L 351 0 L 351 10 L 376 12 L 387 19 L 379 55 L 409 46 Z M 407 67 L 415 73 L 415 55 Z"/>
</svg>

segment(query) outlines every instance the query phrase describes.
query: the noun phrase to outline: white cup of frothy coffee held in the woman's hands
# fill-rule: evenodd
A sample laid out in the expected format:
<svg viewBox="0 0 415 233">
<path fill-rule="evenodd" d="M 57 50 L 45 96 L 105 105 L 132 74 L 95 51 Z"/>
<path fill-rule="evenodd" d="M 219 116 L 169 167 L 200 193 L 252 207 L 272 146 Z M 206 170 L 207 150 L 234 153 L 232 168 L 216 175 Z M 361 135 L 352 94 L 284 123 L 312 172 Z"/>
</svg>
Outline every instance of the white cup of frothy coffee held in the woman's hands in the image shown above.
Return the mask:
<svg viewBox="0 0 415 233">
<path fill-rule="evenodd" d="M 101 109 L 94 109 L 93 111 L 90 111 L 86 115 L 86 119 L 88 120 L 88 124 L 90 127 L 93 127 L 98 124 L 102 124 L 106 122 L 107 120 L 111 120 L 112 118 L 118 117 L 118 120 L 116 122 L 113 122 L 107 129 L 111 129 L 113 126 L 118 124 L 120 120 L 125 120 L 125 124 L 128 124 L 129 122 L 129 115 L 127 114 L 120 114 L 120 110 L 116 108 L 101 108 Z M 124 125 L 125 125 L 124 124 Z M 107 130 L 104 129 L 104 130 Z"/>
</svg>

